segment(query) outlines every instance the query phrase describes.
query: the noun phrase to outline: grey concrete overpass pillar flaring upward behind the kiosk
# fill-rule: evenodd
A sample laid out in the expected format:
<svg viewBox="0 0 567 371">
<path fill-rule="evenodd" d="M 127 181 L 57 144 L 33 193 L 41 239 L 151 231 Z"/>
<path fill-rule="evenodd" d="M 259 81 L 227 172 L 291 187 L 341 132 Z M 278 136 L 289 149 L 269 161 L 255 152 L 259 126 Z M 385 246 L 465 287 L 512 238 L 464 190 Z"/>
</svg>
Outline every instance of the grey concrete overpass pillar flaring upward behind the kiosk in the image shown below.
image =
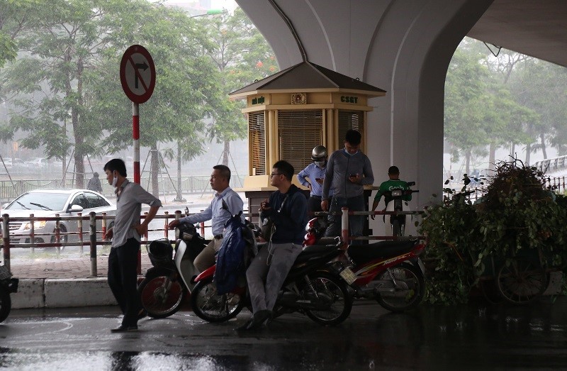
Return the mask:
<svg viewBox="0 0 567 371">
<path fill-rule="evenodd" d="M 310 62 L 385 89 L 386 97 L 370 101 L 366 153 L 375 185 L 397 165 L 420 189 L 414 206 L 433 194 L 439 200 L 447 67 L 493 0 L 236 1 L 282 69 L 302 60 L 297 38 Z"/>
</svg>

